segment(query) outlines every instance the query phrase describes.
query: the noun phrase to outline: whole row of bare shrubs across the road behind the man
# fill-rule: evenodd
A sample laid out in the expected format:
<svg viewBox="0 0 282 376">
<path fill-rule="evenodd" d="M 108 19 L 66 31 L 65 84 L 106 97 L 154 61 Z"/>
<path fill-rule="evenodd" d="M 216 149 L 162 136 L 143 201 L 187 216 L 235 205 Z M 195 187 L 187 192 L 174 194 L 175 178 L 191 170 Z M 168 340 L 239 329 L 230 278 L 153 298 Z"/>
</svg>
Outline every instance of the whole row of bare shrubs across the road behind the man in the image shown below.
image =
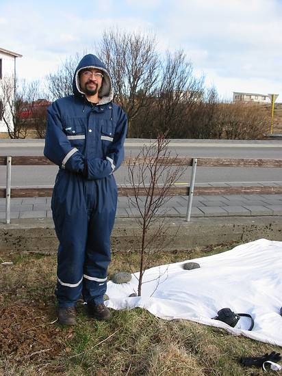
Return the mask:
<svg viewBox="0 0 282 376">
<path fill-rule="evenodd" d="M 112 74 L 114 100 L 127 113 L 128 137 L 257 139 L 267 131 L 268 116 L 259 105 L 220 100 L 216 88 L 194 75 L 183 50 L 159 55 L 153 35 L 105 30 L 97 55 Z M 81 57 L 68 57 L 47 76 L 52 99 L 73 94 Z"/>
</svg>

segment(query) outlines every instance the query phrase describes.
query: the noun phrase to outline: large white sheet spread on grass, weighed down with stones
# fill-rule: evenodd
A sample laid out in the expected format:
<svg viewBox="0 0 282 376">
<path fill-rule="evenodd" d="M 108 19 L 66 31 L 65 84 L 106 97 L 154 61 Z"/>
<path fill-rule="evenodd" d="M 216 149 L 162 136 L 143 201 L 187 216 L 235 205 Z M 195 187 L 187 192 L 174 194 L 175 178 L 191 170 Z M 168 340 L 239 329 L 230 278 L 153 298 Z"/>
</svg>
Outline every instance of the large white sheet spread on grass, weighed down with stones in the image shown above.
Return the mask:
<svg viewBox="0 0 282 376">
<path fill-rule="evenodd" d="M 182 265 L 190 261 L 201 268 L 184 270 Z M 162 319 L 188 319 L 282 346 L 282 241 L 259 239 L 214 256 L 153 267 L 143 280 L 142 297 L 128 297 L 137 291 L 134 276 L 127 284 L 109 282 L 107 306 L 146 308 Z M 247 330 L 247 318 L 241 318 L 235 328 L 211 319 L 227 307 L 251 314 L 253 330 Z"/>
</svg>

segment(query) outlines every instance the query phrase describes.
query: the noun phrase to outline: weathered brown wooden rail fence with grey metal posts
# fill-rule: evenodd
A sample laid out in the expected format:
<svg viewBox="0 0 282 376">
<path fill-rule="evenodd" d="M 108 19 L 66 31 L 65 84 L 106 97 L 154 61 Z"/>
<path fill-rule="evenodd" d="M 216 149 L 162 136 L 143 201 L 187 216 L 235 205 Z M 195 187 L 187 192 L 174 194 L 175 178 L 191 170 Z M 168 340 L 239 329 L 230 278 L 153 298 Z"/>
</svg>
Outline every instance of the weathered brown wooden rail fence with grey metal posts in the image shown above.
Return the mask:
<svg viewBox="0 0 282 376">
<path fill-rule="evenodd" d="M 131 161 L 136 163 L 136 159 L 127 157 L 123 165 L 130 165 Z M 142 163 L 140 159 L 139 163 Z M 179 187 L 174 185 L 170 188 L 170 196 L 189 195 L 188 207 L 186 213 L 186 221 L 190 221 L 192 211 L 192 199 L 195 195 L 216 195 L 216 194 L 238 194 L 238 193 L 282 193 L 282 187 L 195 187 L 196 167 L 282 167 L 282 159 L 246 159 L 246 158 L 190 158 L 177 157 L 166 158 L 168 165 L 183 165 L 185 167 L 192 167 L 190 185 Z M 53 187 L 11 187 L 12 165 L 54 165 L 45 157 L 1 157 L 0 165 L 6 165 L 6 186 L 0 188 L 0 198 L 6 199 L 6 224 L 10 224 L 10 200 L 11 198 L 25 198 L 25 197 L 50 197 L 52 196 Z M 145 194 L 145 189 L 139 190 L 140 196 Z M 155 190 L 157 196 L 159 190 Z M 133 189 L 127 185 L 118 186 L 119 196 L 131 196 Z"/>
</svg>

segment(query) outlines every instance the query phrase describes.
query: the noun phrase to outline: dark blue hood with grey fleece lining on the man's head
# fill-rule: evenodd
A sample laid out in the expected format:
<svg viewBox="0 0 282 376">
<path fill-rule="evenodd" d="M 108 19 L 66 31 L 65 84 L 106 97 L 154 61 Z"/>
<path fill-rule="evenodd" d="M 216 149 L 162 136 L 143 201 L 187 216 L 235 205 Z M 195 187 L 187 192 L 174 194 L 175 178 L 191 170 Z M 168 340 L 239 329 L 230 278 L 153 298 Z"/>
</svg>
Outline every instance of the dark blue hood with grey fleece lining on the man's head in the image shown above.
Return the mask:
<svg viewBox="0 0 282 376">
<path fill-rule="evenodd" d="M 85 68 L 96 68 L 103 72 L 103 81 L 101 85 L 101 89 L 99 90 L 99 105 L 104 105 L 105 103 L 110 102 L 114 98 L 114 90 L 112 87 L 112 79 L 110 76 L 110 72 L 107 70 L 105 65 L 101 62 L 101 60 L 91 53 L 82 57 L 81 61 L 79 62 L 77 68 L 75 69 L 75 75 L 73 77 L 73 94 L 75 96 L 84 96 L 84 92 L 81 91 L 79 85 L 79 72 Z"/>
</svg>

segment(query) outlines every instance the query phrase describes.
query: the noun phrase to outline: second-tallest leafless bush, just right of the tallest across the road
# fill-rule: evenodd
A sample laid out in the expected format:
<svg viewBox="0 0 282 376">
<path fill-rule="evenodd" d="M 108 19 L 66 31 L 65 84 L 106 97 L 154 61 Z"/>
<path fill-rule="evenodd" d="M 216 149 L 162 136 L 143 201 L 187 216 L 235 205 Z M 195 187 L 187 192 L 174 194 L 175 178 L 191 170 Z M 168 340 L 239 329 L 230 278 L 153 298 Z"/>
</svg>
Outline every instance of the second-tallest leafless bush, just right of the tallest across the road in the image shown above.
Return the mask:
<svg viewBox="0 0 282 376">
<path fill-rule="evenodd" d="M 133 119 L 134 137 L 157 137 L 166 133 L 170 138 L 186 137 L 188 113 L 194 111 L 205 92 L 203 77 L 196 79 L 192 64 L 185 53 L 166 52 L 160 62 L 159 80 L 148 98 L 148 105 Z"/>
</svg>

